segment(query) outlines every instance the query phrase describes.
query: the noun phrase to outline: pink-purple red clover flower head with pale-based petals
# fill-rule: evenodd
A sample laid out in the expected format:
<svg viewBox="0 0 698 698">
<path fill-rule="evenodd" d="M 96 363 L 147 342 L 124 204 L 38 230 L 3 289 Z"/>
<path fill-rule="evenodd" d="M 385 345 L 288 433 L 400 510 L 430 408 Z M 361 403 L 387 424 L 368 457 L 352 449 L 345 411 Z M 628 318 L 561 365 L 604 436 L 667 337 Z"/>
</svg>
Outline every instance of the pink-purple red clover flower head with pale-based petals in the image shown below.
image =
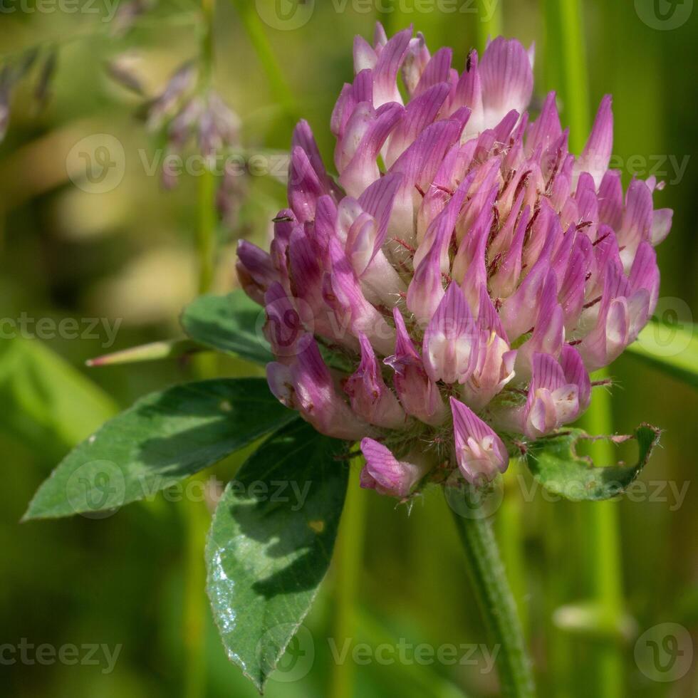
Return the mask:
<svg viewBox="0 0 698 698">
<path fill-rule="evenodd" d="M 608 169 L 610 96 L 575 157 L 555 93 L 529 120 L 519 41 L 472 51 L 462 73 L 451 62 L 411 29 L 356 38 L 330 123 L 336 181 L 301 121 L 271 251 L 239 245 L 241 283 L 266 307 L 271 390 L 360 441 L 362 486 L 400 498 L 489 481 L 506 444 L 581 415 L 590 372 L 652 315 L 672 219 L 653 177 L 624 195 Z"/>
</svg>

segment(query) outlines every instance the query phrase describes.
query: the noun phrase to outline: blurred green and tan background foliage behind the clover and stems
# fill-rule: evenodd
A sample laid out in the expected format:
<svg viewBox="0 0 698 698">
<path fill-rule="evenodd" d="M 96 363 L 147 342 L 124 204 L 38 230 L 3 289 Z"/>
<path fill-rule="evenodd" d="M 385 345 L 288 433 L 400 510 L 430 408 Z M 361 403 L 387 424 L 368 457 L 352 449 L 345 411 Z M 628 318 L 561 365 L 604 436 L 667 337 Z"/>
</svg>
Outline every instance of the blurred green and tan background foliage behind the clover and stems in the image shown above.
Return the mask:
<svg viewBox="0 0 698 698">
<path fill-rule="evenodd" d="M 536 42 L 538 103 L 546 90 L 563 80 L 554 56 L 543 58 L 546 47 L 556 41 L 544 21 L 544 6 L 549 4 L 501 0 L 500 6 L 506 36 Z M 419 4 L 407 1 L 378 5 L 383 11 L 367 13 L 367 4 L 349 2 L 338 13 L 342 4 L 317 2 L 307 24 L 283 31 L 260 21 L 252 3 L 219 0 L 214 85 L 241 118 L 241 142 L 249 152 L 286 150 L 293 120 L 303 115 L 325 161 L 331 162 L 328 123 L 336 95 L 352 75 L 353 36 L 370 37 L 379 15 L 388 33 L 412 22 L 432 51 L 453 46 L 457 66 L 481 41 L 480 15 L 472 11 L 417 12 Z M 12 6 L 16 11 L 1 16 L 0 61 L 32 46 L 57 47 L 59 52 L 45 108 L 36 110 L 31 85 L 20 85 L 9 131 L 0 145 L 0 318 L 19 318 L 21 313 L 55 321 L 118 318 L 120 326 L 109 350 L 179 335 L 179 311 L 197 286 L 196 177 L 183 175 L 174 191 L 165 191 L 159 172 L 147 174 L 143 158 L 150 162 L 162 142 L 137 118 L 141 100 L 110 80 L 104 66 L 125 51 L 132 53 L 147 92 L 157 93 L 182 61 L 197 56 L 197 4 L 161 0 L 125 36 L 110 33 L 102 21 L 105 5 L 99 1 L 94 4 L 96 14 L 68 14 L 60 6 L 53 12 L 36 11 L 31 1 L 20 6 L 6 0 L 3 5 Z M 390 11 L 393 6 L 395 11 Z M 640 19 L 630 1 L 590 0 L 583 4 L 583 30 L 585 53 L 578 60 L 588 70 L 593 105 L 604 93 L 613 93 L 614 152 L 625 184 L 633 172 L 643 178 L 652 174 L 647 170 L 657 157 L 663 158 L 657 167 L 667 184 L 655 201 L 672 207 L 675 214 L 672 234 L 658 250 L 661 296 L 669 299 L 667 308 L 678 308 L 682 320 L 691 320 L 689 308 L 698 307 L 698 12 L 679 28 L 658 31 Z M 256 51 L 260 45 L 271 54 Z M 279 75 L 270 78 L 265 70 L 271 59 L 281 82 Z M 100 194 L 75 187 L 66 174 L 71 147 L 96 133 L 113 135 L 125 150 L 123 181 Z M 680 177 L 671 162 L 687 162 Z M 283 184 L 274 177 L 249 176 L 245 182 L 246 199 L 236 222 L 218 229 L 215 288 L 221 292 L 236 285 L 235 240 L 244 236 L 264 244 L 270 219 L 285 200 Z M 182 505 L 158 496 L 102 520 L 17 523 L 36 486 L 69 447 L 118 407 L 194 375 L 192 365 L 182 360 L 84 368 L 86 359 L 105 353 L 104 343 L 103 332 L 93 339 L 0 340 L 0 643 L 16 644 L 26 637 L 36 645 L 123 645 L 111 674 L 91 666 L 0 665 L 6 695 L 138 698 L 183 692 L 187 630 L 182 625 Z M 226 375 L 259 371 L 233 359 L 221 360 L 217 370 Z M 642 474 L 650 494 L 656 489 L 652 481 L 668 479 L 679 489 L 688 484 L 682 506 L 675 506 L 669 489 L 650 498 L 660 501 L 625 500 L 615 505 L 620 511 L 625 610 L 630 616 L 627 637 L 619 640 L 626 694 L 694 696 L 694 670 L 677 682 L 653 682 L 635 662 L 633 646 L 644 630 L 666 622 L 687 627 L 695 642 L 697 396 L 691 387 L 630 355 L 616 361 L 611 373 L 617 384 L 613 418 L 618 432 L 630 433 L 642 421 L 666 429 L 662 448 Z M 229 478 L 243 459 L 244 454 L 236 454 L 212 472 L 222 480 Z M 585 531 L 579 525 L 584 505 L 544 501 L 540 491 L 533 501 L 523 501 L 516 474 L 506 480 L 498 526 L 504 554 L 513 566 L 517 600 L 528 619 L 526 632 L 541 695 L 590 695 L 585 691 L 585 655 L 593 639 L 575 630 L 569 613 L 559 610 L 583 601 L 584 560 L 593 555 L 585 550 Z M 486 642 L 442 496 L 431 492 L 411 511 L 396 510 L 392 500 L 373 492 L 357 496 L 365 507 L 366 545 L 354 642 L 373 647 L 396 644 L 400 638 L 434 647 Z M 507 538 L 511 531 L 516 541 Z M 330 572 L 306 622 L 314 640 L 311 670 L 296 682 L 272 680 L 272 698 L 327 694 L 334 664 L 327 639 L 333 633 L 336 576 L 336 570 Z M 227 662 L 208 614 L 206 628 L 206 683 L 201 694 L 256 694 Z M 343 640 L 337 638 L 338 644 Z M 355 690 L 369 696 L 496 695 L 494 677 L 481 671 L 483 666 L 374 662 L 357 667 Z"/>
</svg>

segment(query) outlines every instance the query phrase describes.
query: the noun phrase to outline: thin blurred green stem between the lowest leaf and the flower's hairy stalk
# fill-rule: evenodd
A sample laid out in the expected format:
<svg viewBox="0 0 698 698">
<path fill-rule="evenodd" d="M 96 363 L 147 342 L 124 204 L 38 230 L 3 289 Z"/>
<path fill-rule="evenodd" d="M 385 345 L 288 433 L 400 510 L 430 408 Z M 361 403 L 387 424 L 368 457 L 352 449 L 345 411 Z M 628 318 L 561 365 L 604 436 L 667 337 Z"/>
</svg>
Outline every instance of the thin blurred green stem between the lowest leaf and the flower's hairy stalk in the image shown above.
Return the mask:
<svg viewBox="0 0 698 698">
<path fill-rule="evenodd" d="M 352 462 L 347 498 L 342 513 L 340 538 L 335 551 L 335 642 L 342 646 L 347 638 L 355 637 L 356 598 L 363 556 L 365 531 L 365 492 L 360 489 L 358 473 L 361 459 Z M 351 698 L 354 685 L 354 662 L 348 660 L 333 666 L 330 677 L 330 698 Z"/>
</svg>

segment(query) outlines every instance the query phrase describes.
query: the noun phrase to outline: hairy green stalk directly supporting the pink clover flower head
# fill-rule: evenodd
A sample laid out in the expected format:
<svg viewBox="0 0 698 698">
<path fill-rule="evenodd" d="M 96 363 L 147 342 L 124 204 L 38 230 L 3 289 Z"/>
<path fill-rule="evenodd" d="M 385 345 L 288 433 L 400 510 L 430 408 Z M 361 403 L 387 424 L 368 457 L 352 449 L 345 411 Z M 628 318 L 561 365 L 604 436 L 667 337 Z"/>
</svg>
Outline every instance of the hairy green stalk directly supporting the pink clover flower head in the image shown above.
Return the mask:
<svg viewBox="0 0 698 698">
<path fill-rule="evenodd" d="M 474 594 L 491 639 L 499 650 L 497 667 L 501 695 L 532 697 L 535 689 L 531 662 L 526 655 L 516 602 L 506 580 L 494 533 L 484 516 L 474 518 L 479 498 L 469 486 L 463 489 L 463 496 L 467 500 L 465 510 L 471 515 L 462 516 L 454 507 L 452 513 L 466 554 Z"/>
</svg>

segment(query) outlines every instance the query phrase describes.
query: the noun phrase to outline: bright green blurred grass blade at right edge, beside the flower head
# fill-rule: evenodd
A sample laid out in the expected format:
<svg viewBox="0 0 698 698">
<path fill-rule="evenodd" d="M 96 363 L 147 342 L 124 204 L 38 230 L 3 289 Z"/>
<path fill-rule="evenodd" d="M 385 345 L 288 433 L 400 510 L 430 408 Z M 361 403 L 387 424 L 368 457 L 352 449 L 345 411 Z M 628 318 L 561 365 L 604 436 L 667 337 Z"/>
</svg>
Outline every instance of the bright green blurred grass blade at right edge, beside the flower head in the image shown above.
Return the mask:
<svg viewBox="0 0 698 698">
<path fill-rule="evenodd" d="M 698 336 L 693 323 L 667 325 L 650 321 L 627 351 L 698 388 Z"/>
</svg>

